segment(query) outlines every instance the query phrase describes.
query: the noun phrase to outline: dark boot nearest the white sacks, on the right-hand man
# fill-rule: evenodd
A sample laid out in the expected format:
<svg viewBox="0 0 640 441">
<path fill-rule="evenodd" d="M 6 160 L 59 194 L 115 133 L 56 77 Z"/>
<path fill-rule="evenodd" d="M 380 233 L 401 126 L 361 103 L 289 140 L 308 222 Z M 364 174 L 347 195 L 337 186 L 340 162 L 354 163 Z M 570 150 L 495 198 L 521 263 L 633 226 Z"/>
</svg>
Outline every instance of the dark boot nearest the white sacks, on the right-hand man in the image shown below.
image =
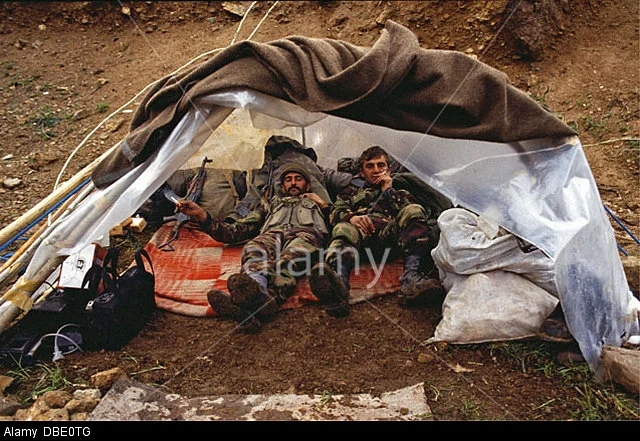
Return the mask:
<svg viewBox="0 0 640 441">
<path fill-rule="evenodd" d="M 444 288 L 440 280 L 423 274 L 422 265 L 426 256 L 408 254 L 404 258 L 400 276 L 399 304 L 405 307 L 424 305 L 430 300 L 442 300 Z"/>
</svg>

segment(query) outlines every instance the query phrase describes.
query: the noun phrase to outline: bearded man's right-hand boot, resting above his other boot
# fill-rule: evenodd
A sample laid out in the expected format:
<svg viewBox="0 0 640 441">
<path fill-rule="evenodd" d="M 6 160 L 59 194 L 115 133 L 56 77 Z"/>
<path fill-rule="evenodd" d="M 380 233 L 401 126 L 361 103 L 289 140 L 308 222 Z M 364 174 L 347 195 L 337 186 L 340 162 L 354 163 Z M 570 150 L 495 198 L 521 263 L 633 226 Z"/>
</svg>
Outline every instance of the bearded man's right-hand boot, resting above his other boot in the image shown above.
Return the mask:
<svg viewBox="0 0 640 441">
<path fill-rule="evenodd" d="M 280 307 L 262 274 L 234 274 L 227 280 L 227 287 L 234 304 L 261 318 L 275 314 Z"/>
</svg>

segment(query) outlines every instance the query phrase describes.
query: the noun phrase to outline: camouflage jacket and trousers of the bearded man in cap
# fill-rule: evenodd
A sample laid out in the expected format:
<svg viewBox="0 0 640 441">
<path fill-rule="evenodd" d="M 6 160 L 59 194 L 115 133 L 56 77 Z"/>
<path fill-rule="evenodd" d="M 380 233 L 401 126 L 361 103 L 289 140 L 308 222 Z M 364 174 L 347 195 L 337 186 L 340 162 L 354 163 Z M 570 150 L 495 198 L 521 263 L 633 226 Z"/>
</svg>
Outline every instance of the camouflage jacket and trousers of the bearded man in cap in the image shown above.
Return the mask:
<svg viewBox="0 0 640 441">
<path fill-rule="evenodd" d="M 306 198 L 276 196 L 244 218 L 209 222 L 203 230 L 223 243 L 250 239 L 242 249 L 241 272 L 266 276 L 276 301 L 284 303 L 326 243 L 328 210 Z"/>
</svg>

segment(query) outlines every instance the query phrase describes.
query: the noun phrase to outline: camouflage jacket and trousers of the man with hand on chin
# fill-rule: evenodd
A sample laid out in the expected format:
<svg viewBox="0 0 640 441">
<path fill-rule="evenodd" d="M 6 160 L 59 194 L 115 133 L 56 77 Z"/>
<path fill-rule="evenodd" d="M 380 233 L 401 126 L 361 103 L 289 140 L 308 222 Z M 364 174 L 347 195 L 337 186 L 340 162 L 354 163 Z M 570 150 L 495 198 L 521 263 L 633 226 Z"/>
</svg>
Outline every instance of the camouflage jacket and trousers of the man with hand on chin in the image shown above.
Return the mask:
<svg viewBox="0 0 640 441">
<path fill-rule="evenodd" d="M 368 215 L 375 226 L 371 236 L 365 237 L 349 223 L 352 217 L 362 215 Z M 408 191 L 389 188 L 383 192 L 379 186 L 360 180 L 338 196 L 331 210 L 332 240 L 325 262 L 335 267 L 340 257 L 353 267 L 358 256 L 349 252 L 349 248 L 358 251 L 370 248 L 374 256 L 385 249 L 390 249 L 394 257 L 398 252 L 424 254 L 437 240 L 431 217 L 431 211 L 418 204 Z"/>
</svg>

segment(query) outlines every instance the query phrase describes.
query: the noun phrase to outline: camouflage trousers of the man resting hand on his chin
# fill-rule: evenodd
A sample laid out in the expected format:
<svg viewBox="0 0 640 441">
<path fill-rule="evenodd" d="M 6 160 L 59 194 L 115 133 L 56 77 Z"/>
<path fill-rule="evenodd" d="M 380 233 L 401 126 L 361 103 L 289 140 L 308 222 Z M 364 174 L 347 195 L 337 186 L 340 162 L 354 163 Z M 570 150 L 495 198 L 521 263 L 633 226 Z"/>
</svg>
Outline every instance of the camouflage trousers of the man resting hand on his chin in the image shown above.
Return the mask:
<svg viewBox="0 0 640 441">
<path fill-rule="evenodd" d="M 336 268 L 336 262 L 353 268 L 360 259 L 359 253 L 367 251 L 368 258 L 377 258 L 388 253 L 392 259 L 409 253 L 429 253 L 437 241 L 437 223 L 430 220 L 427 211 L 420 204 L 409 204 L 380 227 L 365 236 L 360 229 L 349 222 L 340 222 L 331 231 L 331 243 L 326 251 L 325 262 Z"/>
</svg>

